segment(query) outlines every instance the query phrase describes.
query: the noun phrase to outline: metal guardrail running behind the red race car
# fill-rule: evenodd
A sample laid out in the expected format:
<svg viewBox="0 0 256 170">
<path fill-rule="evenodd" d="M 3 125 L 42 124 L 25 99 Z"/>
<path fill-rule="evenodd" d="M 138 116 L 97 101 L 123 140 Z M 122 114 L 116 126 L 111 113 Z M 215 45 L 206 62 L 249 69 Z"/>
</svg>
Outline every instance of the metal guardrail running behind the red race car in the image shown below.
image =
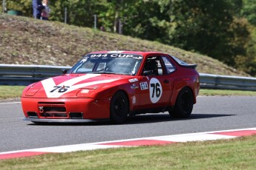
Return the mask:
<svg viewBox="0 0 256 170">
<path fill-rule="evenodd" d="M 45 78 L 61 75 L 62 69 L 71 67 L 45 65 L 0 64 L 0 85 L 32 84 Z M 211 75 L 200 73 L 202 89 L 240 89 L 256 91 L 256 78 Z"/>
</svg>

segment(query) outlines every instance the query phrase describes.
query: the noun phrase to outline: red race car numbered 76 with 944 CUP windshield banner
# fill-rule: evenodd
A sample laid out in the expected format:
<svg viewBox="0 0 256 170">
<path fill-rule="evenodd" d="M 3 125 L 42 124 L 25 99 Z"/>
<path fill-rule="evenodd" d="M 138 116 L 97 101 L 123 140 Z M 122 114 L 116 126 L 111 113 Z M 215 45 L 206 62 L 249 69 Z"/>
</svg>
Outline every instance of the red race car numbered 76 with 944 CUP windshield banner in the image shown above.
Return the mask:
<svg viewBox="0 0 256 170">
<path fill-rule="evenodd" d="M 122 123 L 131 115 L 165 111 L 188 118 L 200 89 L 195 67 L 160 52 L 91 52 L 63 75 L 24 89 L 24 120 Z"/>
</svg>

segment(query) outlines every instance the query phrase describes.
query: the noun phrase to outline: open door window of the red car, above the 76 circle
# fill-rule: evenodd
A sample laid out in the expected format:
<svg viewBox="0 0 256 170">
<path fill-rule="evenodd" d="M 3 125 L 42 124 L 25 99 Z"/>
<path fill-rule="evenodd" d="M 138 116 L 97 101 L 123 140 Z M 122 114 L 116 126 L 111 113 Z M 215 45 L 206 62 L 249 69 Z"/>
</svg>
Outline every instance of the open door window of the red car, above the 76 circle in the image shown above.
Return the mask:
<svg viewBox="0 0 256 170">
<path fill-rule="evenodd" d="M 151 56 L 147 58 L 143 67 L 143 75 L 163 75 L 163 68 L 159 57 Z"/>
</svg>

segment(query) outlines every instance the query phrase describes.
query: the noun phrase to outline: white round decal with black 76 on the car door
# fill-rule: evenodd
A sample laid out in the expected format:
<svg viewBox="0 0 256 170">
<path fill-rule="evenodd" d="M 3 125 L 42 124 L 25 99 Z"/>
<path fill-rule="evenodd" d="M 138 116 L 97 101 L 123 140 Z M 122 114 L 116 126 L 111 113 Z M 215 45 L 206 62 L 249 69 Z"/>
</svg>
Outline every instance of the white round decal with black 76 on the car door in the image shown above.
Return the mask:
<svg viewBox="0 0 256 170">
<path fill-rule="evenodd" d="M 163 92 L 160 81 L 158 81 L 157 78 L 151 78 L 149 84 L 150 84 L 150 88 L 149 88 L 150 100 L 152 103 L 157 103 L 157 101 L 160 100 Z"/>
</svg>

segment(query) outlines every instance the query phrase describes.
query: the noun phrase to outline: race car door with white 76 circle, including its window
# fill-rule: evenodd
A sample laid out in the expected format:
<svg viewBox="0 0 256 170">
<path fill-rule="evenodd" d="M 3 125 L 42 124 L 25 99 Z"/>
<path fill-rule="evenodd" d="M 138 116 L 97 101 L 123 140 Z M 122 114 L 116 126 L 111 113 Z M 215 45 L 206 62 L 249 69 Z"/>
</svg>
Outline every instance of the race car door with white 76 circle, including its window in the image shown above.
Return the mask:
<svg viewBox="0 0 256 170">
<path fill-rule="evenodd" d="M 165 67 L 162 56 L 151 55 L 146 58 L 140 78 L 140 108 L 168 106 L 173 81 Z"/>
</svg>

